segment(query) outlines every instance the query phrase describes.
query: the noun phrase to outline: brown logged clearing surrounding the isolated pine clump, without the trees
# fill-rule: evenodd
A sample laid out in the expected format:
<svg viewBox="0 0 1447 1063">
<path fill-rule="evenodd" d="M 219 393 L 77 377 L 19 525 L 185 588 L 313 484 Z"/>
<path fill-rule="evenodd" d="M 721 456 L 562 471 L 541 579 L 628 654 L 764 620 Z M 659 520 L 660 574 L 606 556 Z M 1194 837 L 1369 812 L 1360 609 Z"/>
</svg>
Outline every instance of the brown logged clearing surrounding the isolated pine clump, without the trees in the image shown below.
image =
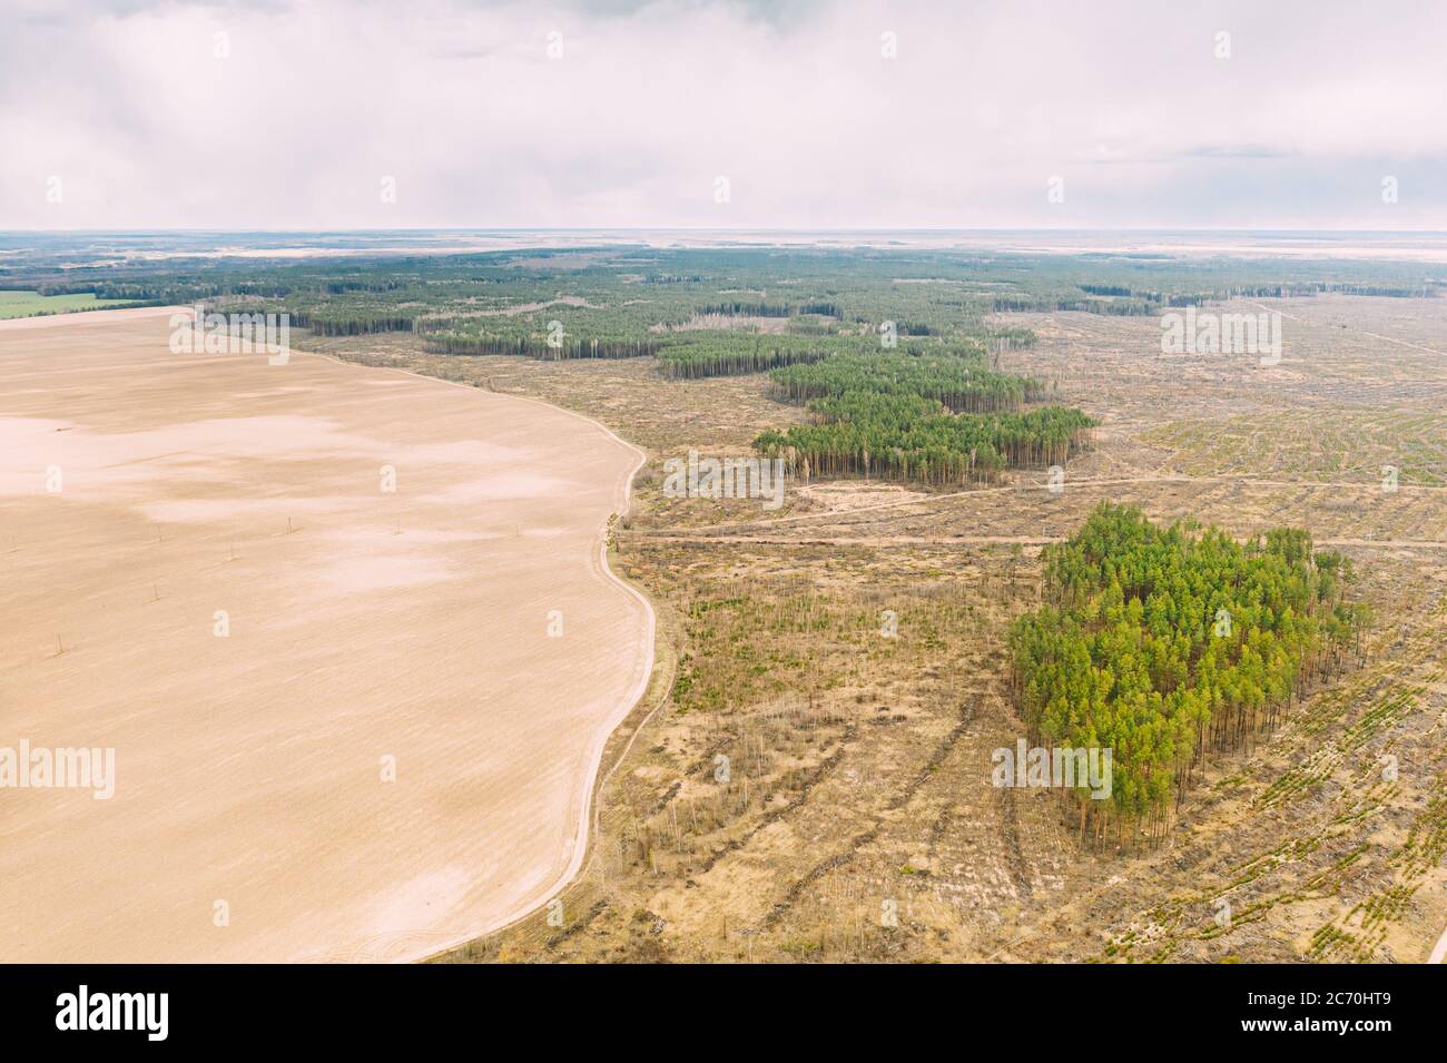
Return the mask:
<svg viewBox="0 0 1447 1063">
<path fill-rule="evenodd" d="M 1029 473 L 939 495 L 833 483 L 777 513 L 660 493 L 664 457 L 745 454 L 799 418 L 761 377 L 328 341 L 582 409 L 650 451 L 619 555 L 660 605 L 660 677 L 683 683 L 611 742 L 601 842 L 551 920 L 446 959 L 1424 959 L 1447 924 L 1447 324 L 1437 301 L 1269 308 L 1273 367 L 1162 356 L 1155 318 L 1011 315 L 1042 341 L 1006 367 L 1103 421 L 1062 495 Z M 1036 600 L 1039 544 L 1101 499 L 1240 535 L 1307 526 L 1378 612 L 1365 659 L 1136 853 L 1085 852 L 1043 791 L 988 784 L 1022 733 L 1006 628 Z"/>
</svg>

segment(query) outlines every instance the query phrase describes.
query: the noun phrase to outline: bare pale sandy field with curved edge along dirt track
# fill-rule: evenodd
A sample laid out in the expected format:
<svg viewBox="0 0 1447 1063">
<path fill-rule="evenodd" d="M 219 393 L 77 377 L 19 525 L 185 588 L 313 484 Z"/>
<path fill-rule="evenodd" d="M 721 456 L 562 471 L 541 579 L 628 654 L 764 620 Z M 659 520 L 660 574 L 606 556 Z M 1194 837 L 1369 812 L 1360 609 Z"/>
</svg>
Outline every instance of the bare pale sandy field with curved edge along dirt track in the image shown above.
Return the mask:
<svg viewBox="0 0 1447 1063">
<path fill-rule="evenodd" d="M 0 748 L 116 751 L 110 800 L 0 790 L 0 960 L 405 960 L 543 904 L 651 667 L 640 451 L 169 312 L 0 325 Z"/>
</svg>

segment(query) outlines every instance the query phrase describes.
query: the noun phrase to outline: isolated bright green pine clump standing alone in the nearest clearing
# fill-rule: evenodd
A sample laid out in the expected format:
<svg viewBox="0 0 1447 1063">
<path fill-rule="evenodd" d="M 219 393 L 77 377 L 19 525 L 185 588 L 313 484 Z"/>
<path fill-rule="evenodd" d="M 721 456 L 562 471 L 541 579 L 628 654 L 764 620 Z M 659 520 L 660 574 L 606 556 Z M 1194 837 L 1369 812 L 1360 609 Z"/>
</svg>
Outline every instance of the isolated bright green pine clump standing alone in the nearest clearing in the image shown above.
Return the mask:
<svg viewBox="0 0 1447 1063">
<path fill-rule="evenodd" d="M 1360 652 L 1351 563 L 1281 528 L 1246 544 L 1101 503 L 1045 551 L 1046 605 L 1010 633 L 1032 745 L 1110 749 L 1108 798 L 1059 791 L 1082 839 L 1159 840 L 1208 751 L 1270 730 Z"/>
</svg>

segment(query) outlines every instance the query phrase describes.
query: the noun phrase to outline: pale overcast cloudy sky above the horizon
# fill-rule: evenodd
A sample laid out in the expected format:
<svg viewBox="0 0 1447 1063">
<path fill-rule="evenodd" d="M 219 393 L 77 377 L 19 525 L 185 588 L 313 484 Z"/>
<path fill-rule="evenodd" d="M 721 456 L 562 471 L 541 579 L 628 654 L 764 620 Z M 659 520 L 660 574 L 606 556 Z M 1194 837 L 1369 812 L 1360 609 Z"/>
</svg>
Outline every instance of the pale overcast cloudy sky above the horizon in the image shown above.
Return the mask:
<svg viewBox="0 0 1447 1063">
<path fill-rule="evenodd" d="M 3 0 L 3 25 L 0 229 L 1447 230 L 1430 0 Z"/>
</svg>

